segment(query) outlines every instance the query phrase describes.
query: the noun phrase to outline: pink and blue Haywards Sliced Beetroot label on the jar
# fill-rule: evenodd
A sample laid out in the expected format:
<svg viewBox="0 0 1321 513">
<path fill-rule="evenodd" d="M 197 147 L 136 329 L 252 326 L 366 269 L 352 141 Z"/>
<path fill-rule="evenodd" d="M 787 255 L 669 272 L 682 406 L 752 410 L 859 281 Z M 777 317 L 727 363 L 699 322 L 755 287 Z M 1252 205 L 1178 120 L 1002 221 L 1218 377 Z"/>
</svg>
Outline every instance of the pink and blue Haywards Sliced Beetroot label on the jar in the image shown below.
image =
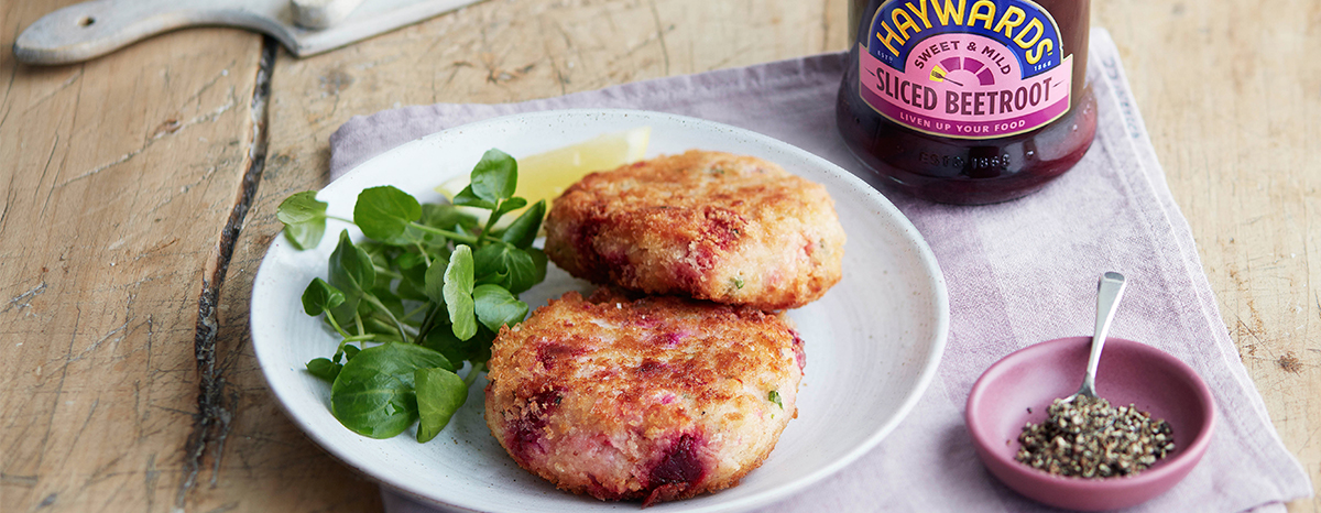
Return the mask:
<svg viewBox="0 0 1321 513">
<path fill-rule="evenodd" d="M 919 132 L 992 139 L 1069 111 L 1073 56 L 1029 0 L 889 0 L 859 42 L 859 91 Z"/>
</svg>

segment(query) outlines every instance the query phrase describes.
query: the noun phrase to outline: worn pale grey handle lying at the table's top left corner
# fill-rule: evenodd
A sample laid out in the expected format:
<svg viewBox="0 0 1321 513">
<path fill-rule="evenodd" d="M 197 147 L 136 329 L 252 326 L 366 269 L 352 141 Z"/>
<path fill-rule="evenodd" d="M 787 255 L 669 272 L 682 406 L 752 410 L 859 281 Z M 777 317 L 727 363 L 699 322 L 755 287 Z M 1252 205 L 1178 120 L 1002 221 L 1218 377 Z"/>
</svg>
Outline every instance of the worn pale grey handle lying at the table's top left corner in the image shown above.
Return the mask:
<svg viewBox="0 0 1321 513">
<path fill-rule="evenodd" d="M 285 46 L 292 36 L 259 9 L 214 7 L 213 0 L 95 0 L 42 16 L 13 44 L 20 62 L 61 65 L 100 57 L 144 38 L 197 25 L 230 25 L 268 33 Z"/>
</svg>

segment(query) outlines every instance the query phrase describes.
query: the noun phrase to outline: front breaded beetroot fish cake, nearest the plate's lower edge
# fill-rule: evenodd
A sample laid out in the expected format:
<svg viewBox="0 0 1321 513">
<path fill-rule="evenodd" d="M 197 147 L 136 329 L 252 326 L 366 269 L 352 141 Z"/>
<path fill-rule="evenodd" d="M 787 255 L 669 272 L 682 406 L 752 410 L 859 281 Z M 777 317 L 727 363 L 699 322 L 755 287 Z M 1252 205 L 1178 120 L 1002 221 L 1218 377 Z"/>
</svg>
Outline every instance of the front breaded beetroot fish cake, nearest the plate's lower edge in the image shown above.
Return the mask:
<svg viewBox="0 0 1321 513">
<path fill-rule="evenodd" d="M 761 465 L 797 416 L 781 315 L 568 292 L 494 342 L 486 424 L 519 465 L 600 500 L 692 497 Z"/>
</svg>

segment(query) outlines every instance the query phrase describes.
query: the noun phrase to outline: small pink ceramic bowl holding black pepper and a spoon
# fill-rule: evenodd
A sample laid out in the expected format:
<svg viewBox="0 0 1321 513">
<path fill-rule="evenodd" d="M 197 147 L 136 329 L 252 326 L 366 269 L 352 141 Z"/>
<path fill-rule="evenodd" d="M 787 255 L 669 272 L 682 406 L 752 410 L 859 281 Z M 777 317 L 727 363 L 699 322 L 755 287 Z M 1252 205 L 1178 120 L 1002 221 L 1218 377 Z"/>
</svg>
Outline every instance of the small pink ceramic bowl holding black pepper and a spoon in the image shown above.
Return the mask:
<svg viewBox="0 0 1321 513">
<path fill-rule="evenodd" d="M 1215 424 L 1206 383 L 1186 364 L 1149 345 L 1107 338 L 1096 393 L 1116 406 L 1133 403 L 1169 422 L 1174 452 L 1137 476 L 1112 479 L 1059 477 L 1013 459 L 1022 424 L 1045 420 L 1053 399 L 1078 390 L 1090 346 L 1091 337 L 1057 338 L 1004 357 L 972 385 L 964 420 L 991 473 L 1024 496 L 1081 510 L 1137 505 L 1170 489 L 1197 465 Z"/>
</svg>

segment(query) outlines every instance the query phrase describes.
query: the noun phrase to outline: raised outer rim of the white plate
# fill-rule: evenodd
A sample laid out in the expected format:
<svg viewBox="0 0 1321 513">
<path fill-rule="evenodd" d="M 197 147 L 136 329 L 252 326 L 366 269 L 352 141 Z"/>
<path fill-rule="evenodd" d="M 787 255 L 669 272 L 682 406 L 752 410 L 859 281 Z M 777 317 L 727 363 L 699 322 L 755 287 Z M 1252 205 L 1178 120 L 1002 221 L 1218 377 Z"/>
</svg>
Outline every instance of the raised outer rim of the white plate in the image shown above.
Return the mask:
<svg viewBox="0 0 1321 513">
<path fill-rule="evenodd" d="M 894 204 L 888 197 L 885 197 L 884 194 L 881 194 L 872 185 L 867 184 L 863 178 L 860 178 L 860 177 L 855 176 L 853 173 L 843 169 L 841 167 L 836 165 L 835 163 L 831 163 L 831 161 L 826 160 L 824 157 L 820 157 L 820 156 L 818 156 L 818 155 L 815 155 L 812 152 L 808 152 L 808 151 L 802 149 L 802 148 L 799 148 L 799 147 L 797 147 L 794 144 L 782 141 L 779 139 L 771 138 L 771 136 L 765 135 L 765 134 L 760 134 L 760 132 L 756 132 L 756 131 L 752 131 L 752 130 L 748 130 L 748 128 L 741 128 L 741 127 L 736 127 L 736 126 L 727 124 L 727 123 L 720 123 L 720 122 L 712 122 L 712 120 L 707 120 L 707 119 L 701 119 L 701 118 L 694 118 L 694 116 L 686 116 L 686 115 L 670 114 L 670 112 L 662 112 L 662 111 L 631 110 L 631 108 L 560 108 L 560 110 L 542 110 L 542 111 L 530 111 L 530 112 L 517 112 L 517 114 L 498 115 L 498 116 L 486 118 L 486 119 L 481 119 L 481 120 L 476 120 L 476 122 L 470 122 L 470 123 L 464 123 L 464 124 L 458 124 L 458 126 L 454 126 L 454 127 L 449 127 L 449 128 L 445 128 L 445 130 L 440 130 L 440 131 L 436 131 L 436 132 L 431 132 L 431 134 L 419 136 L 416 139 L 412 139 L 412 140 L 400 143 L 400 144 L 398 144 L 395 147 L 391 147 L 388 149 L 384 149 L 384 151 L 382 151 L 382 152 L 371 156 L 367 160 L 363 160 L 362 163 L 354 165 L 351 169 L 349 169 L 347 172 L 345 172 L 343 175 L 341 175 L 338 178 L 334 178 L 333 181 L 325 184 L 322 188 L 316 189 L 316 190 L 317 190 L 317 194 L 320 196 L 321 192 L 324 192 L 326 189 L 336 188 L 336 184 L 346 184 L 346 182 L 351 181 L 351 180 L 345 180 L 345 178 L 349 178 L 351 176 L 357 176 L 357 175 L 365 173 L 366 172 L 365 169 L 369 169 L 373 165 L 373 163 L 375 163 L 376 160 L 384 159 L 384 157 L 387 157 L 388 155 L 392 155 L 392 153 L 407 151 L 407 148 L 411 148 L 411 147 L 415 147 L 415 145 L 427 144 L 429 140 L 444 138 L 446 134 L 450 134 L 450 132 L 470 131 L 470 130 L 485 130 L 487 126 L 499 126 L 499 124 L 518 123 L 518 122 L 524 122 L 524 120 L 526 122 L 535 122 L 535 120 L 542 119 L 542 118 L 552 118 L 552 119 L 553 118 L 575 118 L 575 119 L 590 120 L 590 118 L 593 118 L 593 116 L 596 116 L 596 118 L 600 118 L 600 116 L 621 116 L 621 118 L 638 116 L 642 123 L 645 123 L 647 119 L 664 119 L 666 122 L 678 122 L 680 124 L 688 123 L 688 124 L 695 124 L 695 126 L 705 126 L 705 128 L 708 128 L 708 130 L 719 130 L 719 131 L 731 132 L 731 134 L 737 135 L 740 138 L 745 138 L 750 143 L 754 143 L 754 144 L 758 144 L 758 145 L 762 145 L 762 147 L 766 147 L 766 148 L 774 148 L 777 151 L 786 152 L 786 153 L 790 153 L 790 155 L 795 155 L 799 159 L 804 159 L 804 160 L 812 163 L 814 165 L 816 165 L 823 172 L 826 172 L 828 175 L 832 175 L 835 178 L 840 180 L 843 184 L 845 184 L 845 185 L 856 189 L 857 192 L 861 192 L 864 197 L 867 197 L 868 200 L 873 201 L 876 206 L 880 206 L 881 210 L 884 210 L 885 214 L 888 214 L 890 218 L 893 218 L 898 223 L 898 227 L 901 229 L 900 231 L 902 233 L 902 238 L 908 243 L 913 245 L 914 249 L 917 250 L 915 251 L 917 260 L 927 271 L 926 280 L 929 280 L 929 283 L 931 286 L 931 291 L 933 291 L 931 303 L 933 303 L 933 309 L 935 311 L 937 316 L 935 316 L 935 323 L 934 323 L 934 327 L 933 327 L 933 329 L 935 332 L 935 340 L 931 341 L 931 346 L 930 346 L 930 349 L 927 352 L 930 360 L 926 364 L 926 366 L 921 370 L 921 373 L 918 374 L 915 386 L 911 390 L 909 390 L 909 393 L 904 397 L 904 401 L 900 403 L 900 407 L 896 410 L 894 415 L 892 415 L 888 422 L 885 422 L 884 424 L 881 424 L 876 431 L 873 431 L 868 438 L 865 438 L 860 444 L 857 444 L 857 447 L 852 448 L 843 457 L 835 460 L 831 464 L 820 467 L 815 472 L 810 472 L 810 473 L 807 473 L 807 475 L 804 475 L 804 476 L 794 480 L 789 485 L 779 487 L 777 489 L 768 491 L 768 492 L 764 492 L 761 494 L 753 494 L 753 496 L 748 496 L 748 497 L 741 497 L 741 498 L 737 498 L 737 500 L 733 500 L 733 501 L 729 501 L 729 502 L 717 502 L 717 504 L 709 504 L 709 505 L 697 505 L 696 508 L 684 509 L 684 510 L 688 510 L 688 512 L 701 512 L 701 513 L 742 512 L 742 510 L 748 510 L 748 509 L 753 509 L 753 508 L 758 508 L 758 506 L 765 506 L 765 505 L 769 505 L 769 504 L 774 504 L 774 502 L 782 501 L 782 500 L 785 500 L 785 498 L 787 498 L 787 497 L 790 497 L 793 494 L 797 494 L 797 493 L 802 492 L 807 487 L 810 487 L 810 485 L 812 485 L 815 483 L 819 483 L 820 480 L 823 480 L 823 479 L 826 479 L 826 477 L 828 477 L 831 475 L 835 475 L 836 472 L 839 472 L 844 467 L 847 467 L 847 465 L 852 464 L 853 461 L 859 460 L 863 455 L 865 455 L 865 454 L 871 452 L 872 450 L 875 450 L 876 446 L 878 446 L 881 443 L 881 440 L 885 439 L 885 436 L 888 436 L 890 432 L 893 432 L 894 428 L 897 428 L 898 424 L 904 419 L 908 418 L 908 415 L 913 411 L 913 409 L 917 407 L 917 403 L 926 394 L 926 390 L 930 387 L 931 381 L 935 378 L 937 369 L 939 368 L 939 364 L 941 364 L 941 361 L 943 360 L 943 356 L 945 356 L 945 349 L 946 349 L 947 340 L 948 340 L 948 333 L 950 333 L 948 290 L 946 287 L 945 274 L 942 272 L 941 266 L 939 266 L 939 263 L 935 259 L 935 254 L 931 251 L 930 246 L 926 243 L 926 239 L 922 237 L 921 231 L 918 231 L 917 226 L 913 225 L 913 222 L 908 218 L 908 216 L 905 216 L 897 206 L 894 206 Z M 341 185 L 341 186 L 347 186 L 347 185 Z M 299 418 L 299 416 L 296 416 L 296 415 L 292 414 L 291 406 L 285 402 L 285 398 L 281 394 L 280 389 L 277 389 L 273 385 L 273 383 L 277 382 L 276 374 L 275 374 L 275 369 L 273 369 L 275 365 L 266 365 L 266 362 L 262 358 L 263 353 L 266 353 L 266 350 L 263 350 L 262 348 L 266 348 L 267 345 L 258 344 L 258 337 L 259 337 L 258 333 L 259 333 L 259 331 L 255 329 L 256 327 L 254 325 L 254 317 L 251 315 L 251 312 L 256 311 L 254 307 L 255 307 L 255 303 L 256 303 L 258 297 L 260 297 L 260 295 L 256 294 L 256 292 L 258 292 L 259 287 L 262 287 L 262 283 L 263 283 L 262 276 L 263 276 L 264 272 L 269 272 L 268 264 L 271 263 L 269 256 L 271 256 L 272 251 L 276 251 L 277 247 L 283 247 L 284 245 L 288 243 L 285 241 L 283 233 L 284 233 L 284 230 L 281 229 L 279 233 L 276 233 L 271 238 L 271 245 L 267 246 L 266 253 L 262 255 L 262 262 L 258 266 L 256 274 L 254 275 L 252 292 L 250 294 L 250 300 L 248 300 L 248 333 L 250 333 L 250 338 L 252 341 L 254 357 L 258 360 L 258 366 L 262 369 L 262 377 L 266 379 L 266 385 L 267 385 L 268 390 L 271 390 L 271 394 L 275 397 L 276 403 L 280 406 L 280 410 L 284 411 L 285 416 L 295 426 L 299 427 L 299 430 L 303 432 L 304 436 L 306 436 L 308 439 L 310 439 L 312 442 L 314 442 L 318 448 L 321 448 L 322 451 L 325 451 L 326 454 L 329 454 L 332 457 L 334 457 L 341 464 L 345 464 L 346 467 L 353 468 L 355 472 L 358 472 L 358 473 L 369 477 L 370 480 L 378 483 L 382 487 L 387 487 L 391 491 L 403 492 L 404 494 L 407 494 L 408 497 L 411 497 L 413 500 L 420 500 L 423 502 L 439 505 L 439 506 L 443 506 L 443 508 L 457 508 L 457 509 L 461 509 L 461 510 L 485 510 L 485 509 L 481 509 L 481 505 L 478 505 L 478 504 L 449 502 L 449 501 L 446 501 L 446 500 L 444 500 L 441 497 L 436 497 L 433 494 L 427 494 L 423 491 L 415 491 L 415 489 L 411 489 L 410 487 L 400 485 L 400 484 L 396 484 L 396 483 L 391 483 L 391 481 L 388 481 L 386 479 L 382 479 L 380 476 L 374 475 L 374 473 L 369 472 L 367 469 L 365 469 L 363 465 L 355 463 L 353 460 L 351 455 L 345 454 L 343 451 L 338 450 L 336 444 L 328 443 L 328 440 L 325 440 L 322 436 L 320 436 L 317 434 L 317 431 L 313 430 L 312 426 L 309 426 L 309 423 L 306 423 L 304 419 L 301 419 L 301 418 Z"/>
</svg>

